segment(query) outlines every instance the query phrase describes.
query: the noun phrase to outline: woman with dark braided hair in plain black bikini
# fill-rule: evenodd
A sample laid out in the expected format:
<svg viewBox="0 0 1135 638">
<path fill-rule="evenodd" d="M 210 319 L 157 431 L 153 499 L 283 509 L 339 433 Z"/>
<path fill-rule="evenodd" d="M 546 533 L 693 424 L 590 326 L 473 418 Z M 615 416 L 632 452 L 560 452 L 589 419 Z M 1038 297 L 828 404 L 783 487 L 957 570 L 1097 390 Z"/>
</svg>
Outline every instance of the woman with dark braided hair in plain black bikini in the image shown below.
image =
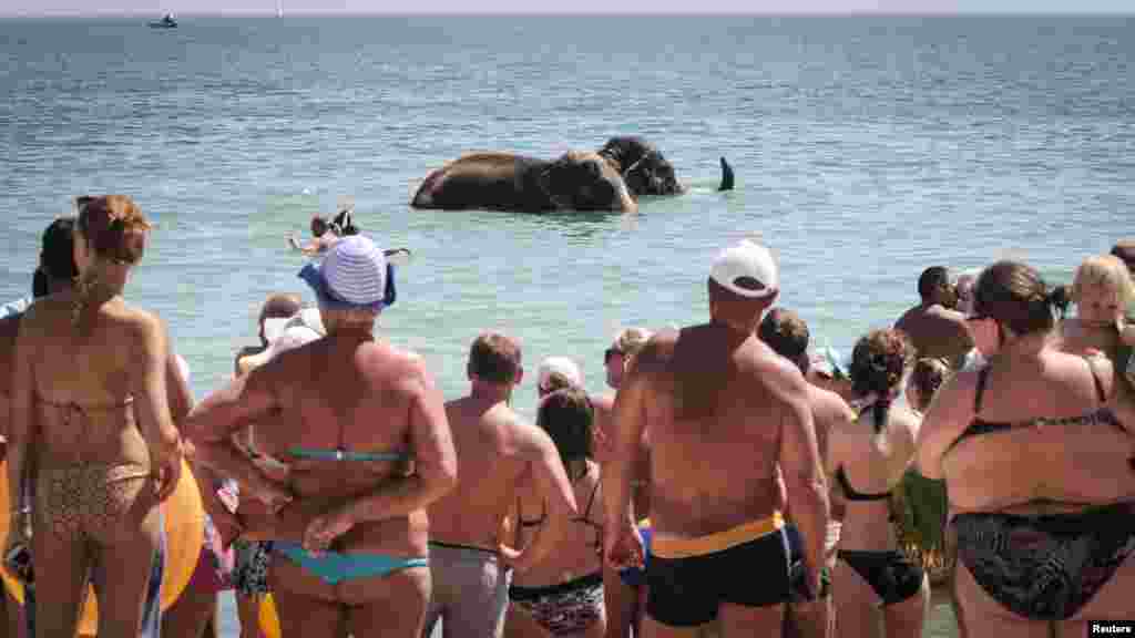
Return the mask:
<svg viewBox="0 0 1135 638">
<path fill-rule="evenodd" d="M 888 636 L 922 636 L 930 585 L 922 565 L 900 551 L 891 524 L 891 492 L 914 459 L 918 434 L 918 414 L 894 403 L 914 363 L 914 346 L 900 330 L 860 338 L 850 369 L 859 417 L 829 435 L 830 485 L 847 503 L 832 574 L 840 636 L 875 636 L 880 608 Z"/>
</svg>

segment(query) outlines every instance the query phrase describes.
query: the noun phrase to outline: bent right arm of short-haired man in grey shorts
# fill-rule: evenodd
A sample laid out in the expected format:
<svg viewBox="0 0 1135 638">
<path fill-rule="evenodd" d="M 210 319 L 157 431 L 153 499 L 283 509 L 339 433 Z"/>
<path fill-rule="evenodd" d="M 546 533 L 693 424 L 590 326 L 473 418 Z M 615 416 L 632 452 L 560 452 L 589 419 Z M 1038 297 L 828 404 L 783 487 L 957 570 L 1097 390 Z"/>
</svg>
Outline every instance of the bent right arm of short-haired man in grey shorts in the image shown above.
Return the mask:
<svg viewBox="0 0 1135 638">
<path fill-rule="evenodd" d="M 545 523 L 536 531 L 535 538 L 524 547 L 519 556 L 510 560 L 512 568 L 524 572 L 537 565 L 550 554 L 564 537 L 568 522 L 579 513 L 575 504 L 575 493 L 568 478 L 556 451 L 555 444 L 544 430 L 531 426 L 524 427 L 524 456 L 529 459 L 536 490 L 544 501 Z"/>
</svg>

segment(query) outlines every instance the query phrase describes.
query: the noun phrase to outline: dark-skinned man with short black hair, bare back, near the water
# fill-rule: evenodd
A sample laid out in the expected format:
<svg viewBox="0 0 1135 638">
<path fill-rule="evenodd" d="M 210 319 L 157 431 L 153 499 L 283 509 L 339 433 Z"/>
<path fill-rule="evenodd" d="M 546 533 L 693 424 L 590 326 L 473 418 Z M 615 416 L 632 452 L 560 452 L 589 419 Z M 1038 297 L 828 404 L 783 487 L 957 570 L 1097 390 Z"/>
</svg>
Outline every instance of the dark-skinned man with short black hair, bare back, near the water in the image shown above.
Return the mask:
<svg viewBox="0 0 1135 638">
<path fill-rule="evenodd" d="M 966 317 L 955 310 L 958 293 L 943 266 L 932 266 L 918 277 L 922 302 L 906 311 L 894 327 L 910 337 L 917 358 L 944 359 L 957 370 L 974 347 Z"/>
</svg>

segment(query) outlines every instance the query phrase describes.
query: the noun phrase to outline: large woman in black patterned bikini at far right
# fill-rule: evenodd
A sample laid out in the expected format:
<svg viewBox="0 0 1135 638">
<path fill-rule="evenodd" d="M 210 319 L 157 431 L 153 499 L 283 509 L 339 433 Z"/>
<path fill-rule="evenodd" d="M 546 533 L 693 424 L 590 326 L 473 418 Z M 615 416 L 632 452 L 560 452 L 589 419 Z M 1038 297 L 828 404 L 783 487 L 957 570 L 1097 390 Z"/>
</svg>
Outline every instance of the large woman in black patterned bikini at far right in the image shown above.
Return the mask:
<svg viewBox="0 0 1135 638">
<path fill-rule="evenodd" d="M 945 479 L 955 595 L 972 636 L 1087 636 L 1087 619 L 1132 615 L 1121 384 L 1108 360 L 1058 350 L 1054 297 L 1024 263 L 985 269 L 967 324 L 987 364 L 948 380 L 919 433 L 920 471 Z"/>
</svg>

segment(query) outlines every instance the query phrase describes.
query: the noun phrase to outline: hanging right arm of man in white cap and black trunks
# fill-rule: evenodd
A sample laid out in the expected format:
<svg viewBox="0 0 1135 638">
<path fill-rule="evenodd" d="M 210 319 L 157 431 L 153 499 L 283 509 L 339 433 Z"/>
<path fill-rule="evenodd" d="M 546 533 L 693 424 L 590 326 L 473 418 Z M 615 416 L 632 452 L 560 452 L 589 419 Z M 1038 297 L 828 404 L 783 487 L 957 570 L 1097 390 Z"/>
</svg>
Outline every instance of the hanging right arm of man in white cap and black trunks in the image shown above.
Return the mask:
<svg viewBox="0 0 1135 638">
<path fill-rule="evenodd" d="M 809 584 L 819 591 L 819 569 L 824 565 L 824 539 L 827 535 L 827 482 L 816 444 L 816 428 L 806 392 L 807 381 L 799 377 L 798 387 L 785 393 L 781 405 L 781 444 L 779 462 L 788 488 L 792 521 L 804 537 L 804 553 Z"/>
</svg>

